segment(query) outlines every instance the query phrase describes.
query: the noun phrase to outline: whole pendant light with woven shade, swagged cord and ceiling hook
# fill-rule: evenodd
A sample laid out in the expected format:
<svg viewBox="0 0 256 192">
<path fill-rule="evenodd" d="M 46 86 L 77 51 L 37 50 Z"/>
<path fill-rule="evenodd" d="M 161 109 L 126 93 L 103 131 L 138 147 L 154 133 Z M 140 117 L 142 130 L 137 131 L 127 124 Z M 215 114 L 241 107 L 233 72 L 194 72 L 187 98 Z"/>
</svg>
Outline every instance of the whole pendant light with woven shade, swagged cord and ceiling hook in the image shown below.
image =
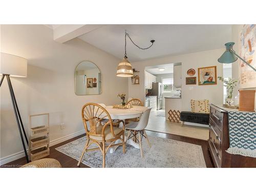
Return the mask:
<svg viewBox="0 0 256 192">
<path fill-rule="evenodd" d="M 127 59 L 127 54 L 126 54 L 126 36 L 130 38 L 130 40 L 132 41 L 132 43 L 138 47 L 139 49 L 141 50 L 145 50 L 145 49 L 149 49 L 153 46 L 155 40 L 151 40 L 150 42 L 152 43 L 150 47 L 147 47 L 147 48 L 141 48 L 139 46 L 137 46 L 132 38 L 130 37 L 130 35 L 128 33 L 126 33 L 125 31 L 125 37 L 124 37 L 124 40 L 125 40 L 125 45 L 124 45 L 124 57 L 123 59 L 121 60 L 121 62 L 119 63 L 118 67 L 117 67 L 117 71 L 116 71 L 116 76 L 118 77 L 133 77 L 133 68 L 132 68 L 132 65 L 131 63 L 129 62 L 129 60 Z"/>
</svg>

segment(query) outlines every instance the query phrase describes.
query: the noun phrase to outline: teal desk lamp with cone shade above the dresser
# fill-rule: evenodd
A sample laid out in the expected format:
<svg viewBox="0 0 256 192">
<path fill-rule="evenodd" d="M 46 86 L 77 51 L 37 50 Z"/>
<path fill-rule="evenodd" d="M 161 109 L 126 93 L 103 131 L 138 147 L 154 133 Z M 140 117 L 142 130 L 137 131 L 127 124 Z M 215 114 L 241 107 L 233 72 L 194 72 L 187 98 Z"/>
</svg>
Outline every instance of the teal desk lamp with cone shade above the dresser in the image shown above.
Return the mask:
<svg viewBox="0 0 256 192">
<path fill-rule="evenodd" d="M 238 58 L 240 58 L 242 61 L 244 61 L 251 69 L 256 71 L 254 67 L 252 67 L 248 62 L 246 62 L 242 57 L 240 57 L 236 52 L 233 50 L 234 42 L 227 42 L 225 44 L 226 51 L 221 55 L 221 57 L 218 59 L 220 63 L 232 63 Z"/>
</svg>

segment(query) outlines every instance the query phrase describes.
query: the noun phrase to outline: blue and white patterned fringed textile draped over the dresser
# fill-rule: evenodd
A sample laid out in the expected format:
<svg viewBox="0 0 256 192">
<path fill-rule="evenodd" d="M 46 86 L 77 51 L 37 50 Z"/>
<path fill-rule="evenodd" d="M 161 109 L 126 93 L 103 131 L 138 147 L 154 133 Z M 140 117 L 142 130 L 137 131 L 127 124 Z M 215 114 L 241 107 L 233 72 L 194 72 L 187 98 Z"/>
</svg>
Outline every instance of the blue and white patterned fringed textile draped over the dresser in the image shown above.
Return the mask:
<svg viewBox="0 0 256 192">
<path fill-rule="evenodd" d="M 256 157 L 256 113 L 228 111 L 230 154 Z"/>
</svg>

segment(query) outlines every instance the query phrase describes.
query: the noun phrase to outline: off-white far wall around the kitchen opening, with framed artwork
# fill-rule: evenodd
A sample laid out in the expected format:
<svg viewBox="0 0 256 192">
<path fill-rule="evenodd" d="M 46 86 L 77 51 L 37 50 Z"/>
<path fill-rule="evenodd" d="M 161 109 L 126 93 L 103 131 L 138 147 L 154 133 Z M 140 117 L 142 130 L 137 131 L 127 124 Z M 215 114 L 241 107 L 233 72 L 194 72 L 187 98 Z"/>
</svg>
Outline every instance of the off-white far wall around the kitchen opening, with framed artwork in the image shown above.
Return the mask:
<svg viewBox="0 0 256 192">
<path fill-rule="evenodd" d="M 217 85 L 208 86 L 187 86 L 185 84 L 185 77 L 188 75 L 187 70 L 194 68 L 196 70 L 198 81 L 198 68 L 207 66 L 217 66 L 217 76 L 223 75 L 223 67 L 217 61 L 225 49 L 216 49 L 203 51 L 198 53 L 190 53 L 177 56 L 169 56 L 152 60 L 145 60 L 140 62 L 133 62 L 132 66 L 136 70 L 140 71 L 140 84 L 138 86 L 132 86 L 129 79 L 129 97 L 139 98 L 144 100 L 144 69 L 146 66 L 162 65 L 167 63 L 181 62 L 182 65 L 182 110 L 190 111 L 190 99 L 209 99 L 210 103 L 223 103 L 223 83 L 218 80 Z"/>
</svg>

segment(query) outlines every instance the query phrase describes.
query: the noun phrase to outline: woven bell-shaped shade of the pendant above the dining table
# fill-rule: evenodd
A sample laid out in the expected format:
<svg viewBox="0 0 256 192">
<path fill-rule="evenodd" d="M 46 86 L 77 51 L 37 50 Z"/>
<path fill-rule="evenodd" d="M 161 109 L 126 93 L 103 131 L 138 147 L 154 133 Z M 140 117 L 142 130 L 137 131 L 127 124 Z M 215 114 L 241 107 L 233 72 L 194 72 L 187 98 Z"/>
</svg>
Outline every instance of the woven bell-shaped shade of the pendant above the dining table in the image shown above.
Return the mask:
<svg viewBox="0 0 256 192">
<path fill-rule="evenodd" d="M 116 71 L 116 76 L 118 77 L 133 77 L 133 68 L 127 57 L 119 63 Z"/>
</svg>

